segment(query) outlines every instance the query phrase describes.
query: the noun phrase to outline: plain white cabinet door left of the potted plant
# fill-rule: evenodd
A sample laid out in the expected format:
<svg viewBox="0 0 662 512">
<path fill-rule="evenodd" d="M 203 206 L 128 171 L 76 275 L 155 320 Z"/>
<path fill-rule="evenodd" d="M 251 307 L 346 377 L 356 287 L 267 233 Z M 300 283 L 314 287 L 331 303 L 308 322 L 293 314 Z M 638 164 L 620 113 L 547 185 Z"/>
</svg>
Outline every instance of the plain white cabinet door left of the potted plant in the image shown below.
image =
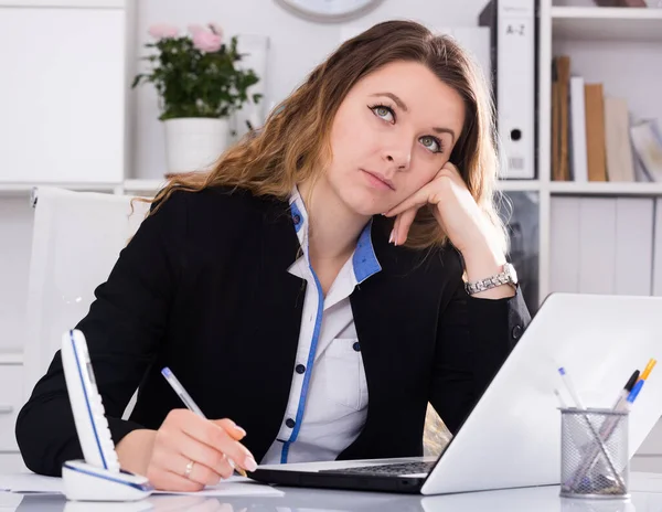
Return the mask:
<svg viewBox="0 0 662 512">
<path fill-rule="evenodd" d="M 0 182 L 120 182 L 125 11 L 0 3 Z"/>
</svg>

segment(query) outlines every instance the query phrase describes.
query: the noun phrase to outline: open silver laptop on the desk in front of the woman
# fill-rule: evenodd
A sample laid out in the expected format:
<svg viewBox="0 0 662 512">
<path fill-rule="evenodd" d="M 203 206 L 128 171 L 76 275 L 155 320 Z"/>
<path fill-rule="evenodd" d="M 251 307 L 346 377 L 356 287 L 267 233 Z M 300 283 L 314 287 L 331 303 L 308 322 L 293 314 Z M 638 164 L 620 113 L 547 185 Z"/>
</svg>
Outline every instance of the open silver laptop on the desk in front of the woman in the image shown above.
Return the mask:
<svg viewBox="0 0 662 512">
<path fill-rule="evenodd" d="M 273 484 L 419 494 L 558 484 L 565 367 L 587 407 L 611 407 L 632 372 L 662 362 L 662 297 L 552 294 L 438 458 L 259 466 Z M 566 394 L 567 396 L 567 394 Z M 630 413 L 630 457 L 662 416 L 662 369 Z"/>
</svg>

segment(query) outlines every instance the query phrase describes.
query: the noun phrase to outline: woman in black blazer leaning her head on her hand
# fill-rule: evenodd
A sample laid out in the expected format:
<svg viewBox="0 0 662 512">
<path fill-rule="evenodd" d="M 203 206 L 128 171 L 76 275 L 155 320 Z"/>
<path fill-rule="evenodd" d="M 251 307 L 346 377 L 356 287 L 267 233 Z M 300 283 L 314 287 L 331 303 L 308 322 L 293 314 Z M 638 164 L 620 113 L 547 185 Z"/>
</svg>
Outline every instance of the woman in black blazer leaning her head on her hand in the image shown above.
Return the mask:
<svg viewBox="0 0 662 512">
<path fill-rule="evenodd" d="M 121 466 L 191 491 L 232 461 L 416 456 L 428 401 L 455 433 L 530 320 L 492 120 L 452 40 L 385 22 L 212 172 L 171 180 L 76 327 Z M 56 354 L 17 423 L 36 472 L 82 456 L 67 399 Z"/>
</svg>

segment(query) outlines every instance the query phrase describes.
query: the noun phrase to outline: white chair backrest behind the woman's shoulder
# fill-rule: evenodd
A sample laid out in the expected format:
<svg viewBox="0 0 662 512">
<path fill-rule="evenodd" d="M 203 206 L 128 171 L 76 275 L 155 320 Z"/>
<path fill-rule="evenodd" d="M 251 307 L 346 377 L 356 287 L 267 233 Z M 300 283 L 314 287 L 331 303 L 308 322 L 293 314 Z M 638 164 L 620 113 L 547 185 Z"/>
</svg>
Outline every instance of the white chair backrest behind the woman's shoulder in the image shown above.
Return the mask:
<svg viewBox="0 0 662 512">
<path fill-rule="evenodd" d="M 94 290 L 145 218 L 130 196 L 38 188 L 24 339 L 25 398 L 60 350 L 62 333 L 89 310 Z"/>
</svg>

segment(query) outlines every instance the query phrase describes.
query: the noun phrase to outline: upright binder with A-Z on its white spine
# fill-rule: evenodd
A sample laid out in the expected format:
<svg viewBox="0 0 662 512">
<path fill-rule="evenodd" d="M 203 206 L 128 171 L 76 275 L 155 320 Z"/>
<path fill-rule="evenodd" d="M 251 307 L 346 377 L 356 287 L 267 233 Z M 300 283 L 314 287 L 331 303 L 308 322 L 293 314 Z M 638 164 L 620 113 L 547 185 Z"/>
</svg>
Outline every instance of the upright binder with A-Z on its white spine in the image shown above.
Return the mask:
<svg viewBox="0 0 662 512">
<path fill-rule="evenodd" d="M 491 0 L 479 14 L 489 26 L 496 126 L 505 156 L 502 179 L 534 179 L 536 1 Z"/>
</svg>

